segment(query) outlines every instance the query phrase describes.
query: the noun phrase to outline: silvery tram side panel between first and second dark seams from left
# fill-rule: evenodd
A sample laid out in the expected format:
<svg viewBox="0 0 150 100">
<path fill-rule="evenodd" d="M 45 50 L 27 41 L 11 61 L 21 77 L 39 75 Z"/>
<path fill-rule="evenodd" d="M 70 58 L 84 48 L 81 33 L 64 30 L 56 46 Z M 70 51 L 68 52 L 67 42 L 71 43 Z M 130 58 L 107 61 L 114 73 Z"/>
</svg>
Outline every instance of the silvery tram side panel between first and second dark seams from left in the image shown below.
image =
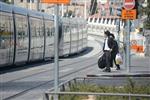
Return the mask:
<svg viewBox="0 0 150 100">
<path fill-rule="evenodd" d="M 27 16 L 15 14 L 16 25 L 16 62 L 25 62 L 28 58 L 29 34 Z"/>
</svg>

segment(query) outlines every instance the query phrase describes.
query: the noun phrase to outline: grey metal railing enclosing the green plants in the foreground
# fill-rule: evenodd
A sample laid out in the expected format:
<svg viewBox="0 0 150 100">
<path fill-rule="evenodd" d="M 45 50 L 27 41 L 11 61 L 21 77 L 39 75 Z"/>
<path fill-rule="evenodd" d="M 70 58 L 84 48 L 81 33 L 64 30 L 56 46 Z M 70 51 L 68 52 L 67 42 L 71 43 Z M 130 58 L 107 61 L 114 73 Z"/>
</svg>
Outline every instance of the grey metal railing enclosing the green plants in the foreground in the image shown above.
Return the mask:
<svg viewBox="0 0 150 100">
<path fill-rule="evenodd" d="M 126 77 L 126 76 L 125 76 Z M 49 90 L 49 91 L 46 91 L 45 94 L 44 94 L 44 100 L 53 100 L 53 96 L 54 95 L 76 95 L 76 96 L 89 96 L 89 95 L 92 95 L 92 96 L 117 96 L 117 97 L 126 97 L 125 100 L 132 100 L 132 97 L 136 97 L 135 100 L 142 100 L 141 98 L 147 98 L 147 99 L 144 99 L 144 100 L 149 100 L 150 99 L 150 95 L 149 94 L 133 94 L 133 93 L 98 93 L 98 92 L 68 92 L 66 91 L 65 92 L 65 89 L 67 89 L 68 87 L 71 86 L 72 83 L 76 83 L 78 80 L 83 80 L 85 82 L 86 79 L 104 79 L 104 78 L 108 78 L 108 77 L 78 77 L 78 78 L 73 78 L 71 80 L 68 80 L 68 81 L 65 81 L 64 83 L 60 84 L 59 85 L 59 89 L 60 89 L 60 92 L 53 92 L 53 89 Z"/>
</svg>

